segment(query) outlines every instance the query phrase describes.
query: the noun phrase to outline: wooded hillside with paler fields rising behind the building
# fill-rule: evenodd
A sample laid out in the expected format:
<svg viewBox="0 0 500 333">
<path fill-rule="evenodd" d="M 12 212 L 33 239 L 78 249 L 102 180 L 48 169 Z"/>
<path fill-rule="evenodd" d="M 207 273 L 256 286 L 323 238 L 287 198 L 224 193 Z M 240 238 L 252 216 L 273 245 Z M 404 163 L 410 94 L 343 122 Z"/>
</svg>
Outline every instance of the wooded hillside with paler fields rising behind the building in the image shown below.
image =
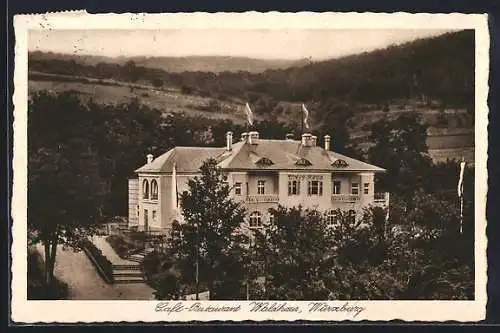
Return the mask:
<svg viewBox="0 0 500 333">
<path fill-rule="evenodd" d="M 138 59 L 110 59 L 31 53 L 30 92 L 72 91 L 84 101 L 103 104 L 138 99 L 165 115 L 235 123 L 244 122 L 245 102 L 257 119 L 288 124 L 300 122 L 300 104 L 306 103 L 314 131 L 363 149 L 370 145 L 374 122 L 416 111 L 429 126 L 433 157 L 473 158 L 473 31 L 262 73 L 167 72 L 161 66 L 143 66 Z M 153 66 L 150 60 L 160 58 L 147 59 L 144 64 Z M 195 58 L 184 60 L 196 63 Z M 162 63 L 169 61 L 175 63 L 162 58 Z"/>
</svg>

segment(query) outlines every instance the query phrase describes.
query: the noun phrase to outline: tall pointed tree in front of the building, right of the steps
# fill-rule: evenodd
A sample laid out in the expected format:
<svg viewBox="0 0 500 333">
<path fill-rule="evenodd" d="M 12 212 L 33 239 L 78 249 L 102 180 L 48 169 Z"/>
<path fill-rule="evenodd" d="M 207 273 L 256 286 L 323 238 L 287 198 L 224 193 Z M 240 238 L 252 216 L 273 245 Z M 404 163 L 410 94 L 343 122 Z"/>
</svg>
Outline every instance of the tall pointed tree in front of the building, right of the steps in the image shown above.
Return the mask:
<svg viewBox="0 0 500 333">
<path fill-rule="evenodd" d="M 178 258 L 186 282 L 195 280 L 198 263 L 199 281 L 207 286 L 211 299 L 231 298 L 222 286 L 243 281 L 248 242 L 242 231 L 245 209 L 230 198 L 231 188 L 217 161 L 208 159 L 200 172 L 181 195 L 184 223 L 173 228 L 169 251 Z"/>
</svg>

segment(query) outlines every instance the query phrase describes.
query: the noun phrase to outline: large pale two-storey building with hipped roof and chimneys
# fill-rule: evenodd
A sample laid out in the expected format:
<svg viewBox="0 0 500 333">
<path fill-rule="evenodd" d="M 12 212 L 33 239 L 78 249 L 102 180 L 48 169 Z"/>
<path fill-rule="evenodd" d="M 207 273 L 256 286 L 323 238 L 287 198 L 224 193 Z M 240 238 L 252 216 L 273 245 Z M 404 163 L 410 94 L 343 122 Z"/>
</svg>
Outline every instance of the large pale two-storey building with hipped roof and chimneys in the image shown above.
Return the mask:
<svg viewBox="0 0 500 333">
<path fill-rule="evenodd" d="M 233 199 L 245 206 L 247 223 L 260 228 L 272 220 L 269 208 L 301 205 L 324 214 L 334 223 L 335 210 L 360 216 L 369 205 L 387 207 L 388 193 L 376 193 L 374 176 L 385 170 L 330 151 L 330 136 L 317 146 L 317 137 L 306 133 L 301 140 L 283 140 L 243 133 L 238 142 L 227 133 L 226 147 L 175 147 L 135 170 L 129 179 L 129 226 L 167 232 L 182 220 L 177 196 L 187 190 L 190 178 L 208 158 L 218 161 L 232 186 Z"/>
</svg>

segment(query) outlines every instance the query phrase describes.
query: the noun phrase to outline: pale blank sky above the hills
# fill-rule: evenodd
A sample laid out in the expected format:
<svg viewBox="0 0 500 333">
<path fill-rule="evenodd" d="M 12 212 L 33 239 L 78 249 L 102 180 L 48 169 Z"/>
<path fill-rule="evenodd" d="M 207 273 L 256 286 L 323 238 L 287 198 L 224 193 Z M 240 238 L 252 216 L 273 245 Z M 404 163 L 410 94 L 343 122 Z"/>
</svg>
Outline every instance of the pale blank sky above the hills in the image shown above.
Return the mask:
<svg viewBox="0 0 500 333">
<path fill-rule="evenodd" d="M 451 30 L 31 30 L 29 51 L 102 56 L 238 56 L 313 60 L 372 51 Z"/>
</svg>

